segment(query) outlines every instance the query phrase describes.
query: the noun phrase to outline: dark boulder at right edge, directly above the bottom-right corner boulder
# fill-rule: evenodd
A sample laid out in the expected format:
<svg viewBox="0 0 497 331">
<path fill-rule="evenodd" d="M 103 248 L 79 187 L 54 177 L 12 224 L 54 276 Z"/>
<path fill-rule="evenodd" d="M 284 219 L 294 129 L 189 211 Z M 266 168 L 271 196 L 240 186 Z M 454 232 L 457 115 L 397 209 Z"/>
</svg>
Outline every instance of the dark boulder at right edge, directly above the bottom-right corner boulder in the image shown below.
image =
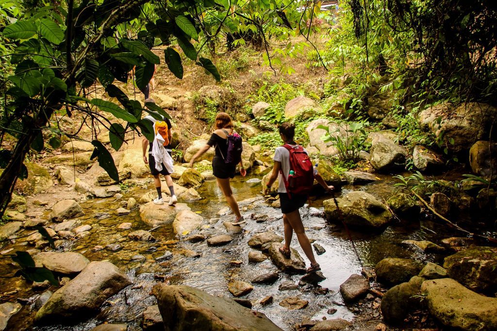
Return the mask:
<svg viewBox="0 0 497 331">
<path fill-rule="evenodd" d="M 449 277 L 475 292 L 497 292 L 497 248 L 472 247 L 445 258 Z"/>
</svg>

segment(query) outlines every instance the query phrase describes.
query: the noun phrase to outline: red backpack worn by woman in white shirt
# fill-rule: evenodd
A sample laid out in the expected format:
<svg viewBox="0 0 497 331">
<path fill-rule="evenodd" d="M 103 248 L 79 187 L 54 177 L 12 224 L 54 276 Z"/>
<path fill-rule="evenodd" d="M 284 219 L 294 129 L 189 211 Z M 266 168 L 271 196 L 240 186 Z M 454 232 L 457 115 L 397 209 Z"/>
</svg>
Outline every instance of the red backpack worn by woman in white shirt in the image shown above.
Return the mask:
<svg viewBox="0 0 497 331">
<path fill-rule="evenodd" d="M 293 176 L 288 176 L 288 180 L 283 175 L 286 192 L 289 194 L 309 194 L 314 185 L 314 171 L 309 155 L 300 145 L 293 147 L 289 144 L 284 144 L 283 147 L 290 152 L 290 170 L 294 171 Z"/>
</svg>

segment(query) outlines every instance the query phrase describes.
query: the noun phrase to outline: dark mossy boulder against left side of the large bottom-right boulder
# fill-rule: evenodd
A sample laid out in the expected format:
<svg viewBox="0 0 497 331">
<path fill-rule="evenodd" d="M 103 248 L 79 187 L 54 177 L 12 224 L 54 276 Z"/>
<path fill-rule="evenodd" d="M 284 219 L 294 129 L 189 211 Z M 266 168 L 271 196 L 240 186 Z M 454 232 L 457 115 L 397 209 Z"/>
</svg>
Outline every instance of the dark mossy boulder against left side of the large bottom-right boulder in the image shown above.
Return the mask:
<svg viewBox="0 0 497 331">
<path fill-rule="evenodd" d="M 420 308 L 419 289 L 423 278 L 414 276 L 409 282 L 395 285 L 385 293 L 381 300 L 381 312 L 385 321 L 401 324 L 409 313 Z"/>
</svg>

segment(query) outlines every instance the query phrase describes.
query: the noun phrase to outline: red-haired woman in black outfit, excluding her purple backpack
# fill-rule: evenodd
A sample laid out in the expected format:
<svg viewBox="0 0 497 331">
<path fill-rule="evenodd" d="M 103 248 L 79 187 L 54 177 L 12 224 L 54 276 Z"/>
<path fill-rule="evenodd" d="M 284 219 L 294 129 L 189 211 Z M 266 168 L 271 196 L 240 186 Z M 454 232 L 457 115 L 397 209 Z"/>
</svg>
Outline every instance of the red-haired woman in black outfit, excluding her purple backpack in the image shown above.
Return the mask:
<svg viewBox="0 0 497 331">
<path fill-rule="evenodd" d="M 209 148 L 214 146 L 212 172 L 216 177 L 219 188 L 223 192 L 223 195 L 226 197 L 226 201 L 237 217 L 236 221 L 232 224 L 241 225 L 245 223 L 245 220 L 240 213 L 240 208 L 238 207 L 237 200 L 233 196 L 233 191 L 231 190 L 230 185 L 230 178 L 235 177 L 237 165 L 224 162 L 224 158 L 228 154 L 228 135 L 233 134 L 234 132 L 230 115 L 226 113 L 218 113 L 216 115 L 216 123 L 214 125 L 214 129 L 215 131 L 212 133 L 211 138 L 209 139 L 207 144 L 204 147 L 200 148 L 200 150 L 191 158 L 190 167 L 193 167 L 193 163 L 195 162 L 196 158 L 200 157 Z M 247 171 L 245 170 L 242 161 L 240 161 L 240 173 L 244 177 L 245 175 L 247 175 Z"/>
</svg>

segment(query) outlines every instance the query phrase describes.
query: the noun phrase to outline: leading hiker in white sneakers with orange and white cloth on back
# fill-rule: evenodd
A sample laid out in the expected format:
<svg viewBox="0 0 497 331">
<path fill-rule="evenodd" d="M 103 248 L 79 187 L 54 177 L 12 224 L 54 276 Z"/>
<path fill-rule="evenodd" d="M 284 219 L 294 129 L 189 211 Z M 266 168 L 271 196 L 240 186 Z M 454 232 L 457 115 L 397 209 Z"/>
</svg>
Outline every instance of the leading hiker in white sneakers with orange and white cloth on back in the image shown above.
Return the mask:
<svg viewBox="0 0 497 331">
<path fill-rule="evenodd" d="M 147 99 L 145 102 L 154 102 L 153 99 Z M 153 123 L 155 129 L 155 137 L 153 141 L 149 141 L 145 136 L 142 139 L 143 161 L 149 165 L 150 173 L 154 176 L 154 184 L 157 190 L 157 199 L 154 199 L 155 204 L 164 204 L 162 199 L 162 183 L 160 175 L 164 175 L 166 184 L 169 187 L 171 197 L 169 198 L 169 205 L 176 204 L 177 198 L 174 195 L 174 186 L 170 174 L 173 171 L 172 157 L 171 157 L 171 122 L 169 119 L 163 118 L 163 121 L 158 121 L 152 116 L 148 115 L 144 119 Z M 147 146 L 149 147 L 147 159 Z M 157 162 L 159 159 L 160 162 Z M 159 168 L 159 169 L 158 169 Z"/>
</svg>

